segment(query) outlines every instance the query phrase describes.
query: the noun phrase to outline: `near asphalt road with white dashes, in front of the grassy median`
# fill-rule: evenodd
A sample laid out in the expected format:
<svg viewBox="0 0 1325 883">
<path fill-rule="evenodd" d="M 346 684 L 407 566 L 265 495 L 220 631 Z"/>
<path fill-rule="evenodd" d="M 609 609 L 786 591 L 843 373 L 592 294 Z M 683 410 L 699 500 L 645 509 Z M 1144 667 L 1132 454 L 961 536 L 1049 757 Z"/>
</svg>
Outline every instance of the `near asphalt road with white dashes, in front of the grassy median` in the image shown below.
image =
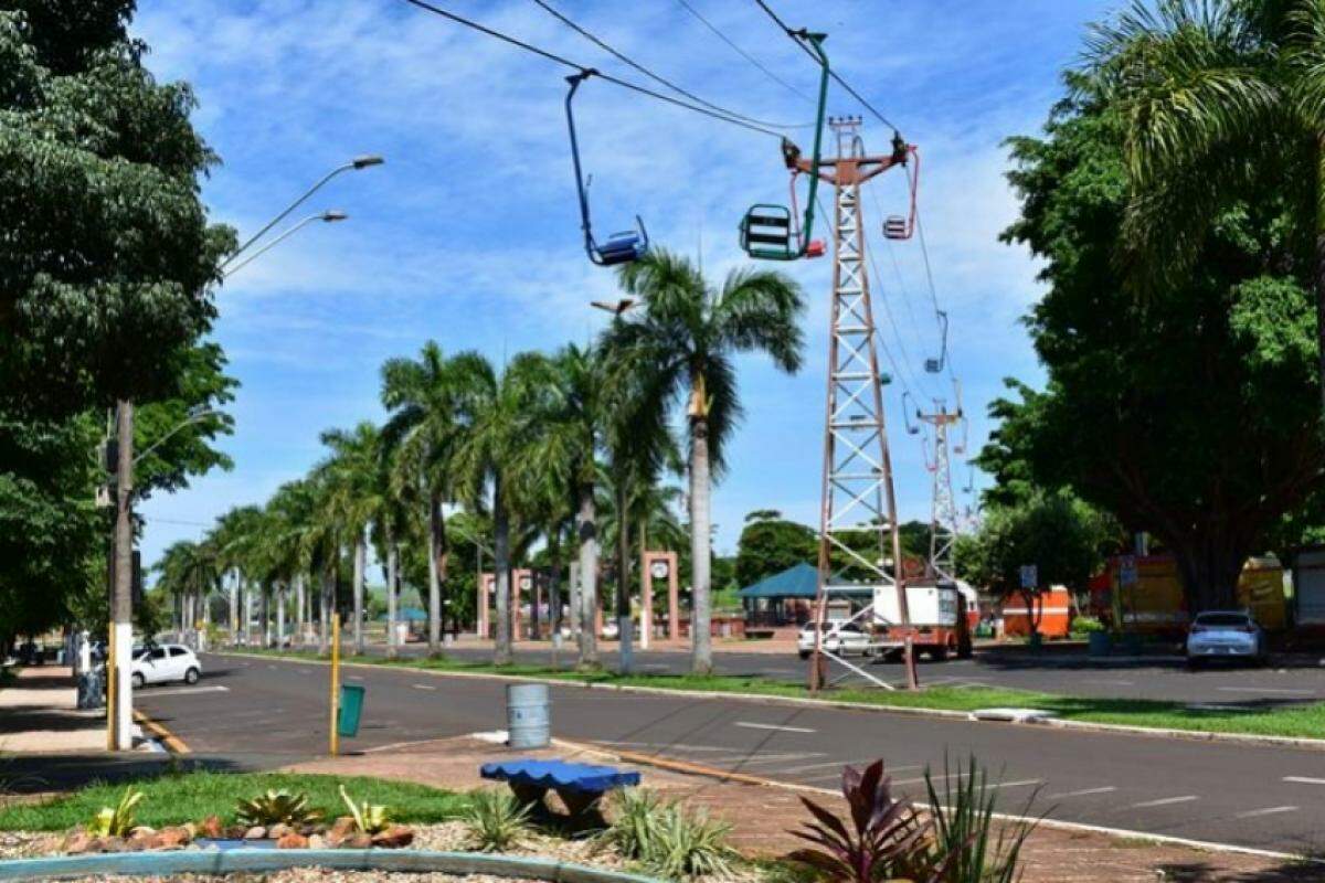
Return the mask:
<svg viewBox="0 0 1325 883">
<path fill-rule="evenodd" d="M 196 687 L 158 687 L 136 704 L 195 752 L 265 768 L 325 751 L 326 666 L 204 655 Z M 347 751 L 505 727 L 504 684 L 390 669 L 346 669 L 367 687 Z M 833 786 L 844 763 L 884 757 L 918 794 L 926 765 L 971 755 L 1000 782 L 1000 809 L 1291 853 L 1325 847 L 1325 752 L 1063 732 L 730 698 L 553 688 L 558 736 L 722 769 Z M 496 749 L 494 749 L 496 751 Z"/>
</svg>

